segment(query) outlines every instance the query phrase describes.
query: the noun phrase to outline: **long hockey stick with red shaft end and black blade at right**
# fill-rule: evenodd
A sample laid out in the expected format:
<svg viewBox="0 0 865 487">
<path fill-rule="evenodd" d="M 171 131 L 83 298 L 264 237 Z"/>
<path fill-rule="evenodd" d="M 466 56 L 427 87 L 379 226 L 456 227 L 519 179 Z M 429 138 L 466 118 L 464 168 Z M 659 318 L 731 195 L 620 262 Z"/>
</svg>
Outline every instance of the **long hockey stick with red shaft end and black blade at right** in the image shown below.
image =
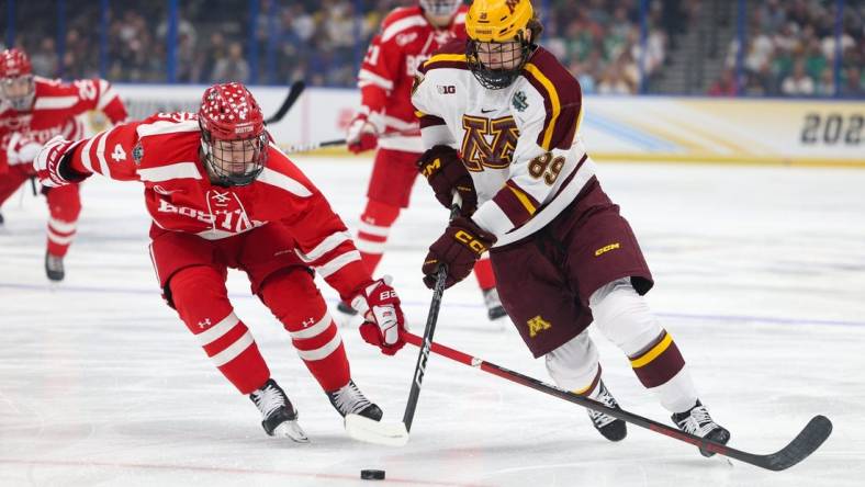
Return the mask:
<svg viewBox="0 0 865 487">
<path fill-rule="evenodd" d="M 405 341 L 412 343 L 415 347 L 423 347 L 422 350 L 428 350 L 430 348 L 429 342 L 426 341 L 426 337 L 422 339 L 420 337 L 411 332 L 406 333 Z M 832 432 L 832 421 L 830 421 L 825 416 L 818 415 L 811 418 L 811 420 L 808 421 L 808 424 L 806 424 L 799 434 L 797 434 L 796 438 L 794 438 L 793 441 L 790 441 L 786 446 L 775 453 L 757 455 L 754 453 L 743 452 L 741 450 L 737 450 L 711 440 L 706 440 L 684 431 L 679 431 L 676 428 L 662 424 L 649 418 L 643 418 L 642 416 L 628 412 L 624 409 L 610 408 L 603 403 L 598 403 L 587 397 L 564 390 L 562 388 L 538 381 L 537 378 L 523 375 L 519 372 L 514 372 L 501 365 L 490 363 L 483 359 L 471 356 L 441 343 L 432 343 L 431 350 L 432 353 L 446 356 L 450 360 L 470 365 L 475 369 L 480 369 L 484 372 L 497 375 L 510 382 L 531 387 L 535 390 L 540 390 L 541 393 L 574 403 L 576 405 L 583 406 L 584 408 L 603 411 L 605 415 L 613 416 L 614 418 L 621 419 L 622 421 L 627 421 L 631 424 L 637 424 L 638 427 L 652 430 L 656 433 L 665 434 L 670 438 L 697 445 L 705 451 L 729 456 L 730 458 L 734 458 L 740 462 L 749 463 L 751 465 L 769 471 L 783 471 L 807 458 L 808 455 L 813 453 L 818 448 L 820 448 L 821 444 L 823 444 L 825 439 L 829 438 L 829 434 Z"/>
</svg>

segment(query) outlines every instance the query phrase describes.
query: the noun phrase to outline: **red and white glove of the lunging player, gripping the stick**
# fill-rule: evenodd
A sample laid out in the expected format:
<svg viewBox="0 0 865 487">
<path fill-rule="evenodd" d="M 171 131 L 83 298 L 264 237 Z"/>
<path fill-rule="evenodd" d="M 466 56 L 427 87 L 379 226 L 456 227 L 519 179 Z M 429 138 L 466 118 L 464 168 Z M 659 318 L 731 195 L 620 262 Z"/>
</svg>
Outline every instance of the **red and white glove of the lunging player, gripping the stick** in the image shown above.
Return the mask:
<svg viewBox="0 0 865 487">
<path fill-rule="evenodd" d="M 374 281 L 351 299 L 351 307 L 363 316 L 360 336 L 367 343 L 393 355 L 405 344 L 405 318 L 400 297 L 391 287 L 391 276 Z"/>
</svg>

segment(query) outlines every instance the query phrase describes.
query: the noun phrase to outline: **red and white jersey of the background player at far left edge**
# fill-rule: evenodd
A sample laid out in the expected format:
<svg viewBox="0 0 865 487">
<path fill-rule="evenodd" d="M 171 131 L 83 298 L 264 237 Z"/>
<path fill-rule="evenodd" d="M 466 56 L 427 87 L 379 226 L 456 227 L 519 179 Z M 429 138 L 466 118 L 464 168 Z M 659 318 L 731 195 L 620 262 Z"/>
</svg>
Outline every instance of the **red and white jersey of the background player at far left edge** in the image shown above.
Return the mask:
<svg viewBox="0 0 865 487">
<path fill-rule="evenodd" d="M 126 107 L 103 79 L 65 83 L 35 77 L 35 82 L 30 112 L 18 112 L 0 102 L 0 173 L 8 165 L 31 162 L 38 147 L 55 135 L 68 140 L 83 137 L 81 116 L 91 110 L 102 111 L 112 124 L 126 120 Z"/>
</svg>

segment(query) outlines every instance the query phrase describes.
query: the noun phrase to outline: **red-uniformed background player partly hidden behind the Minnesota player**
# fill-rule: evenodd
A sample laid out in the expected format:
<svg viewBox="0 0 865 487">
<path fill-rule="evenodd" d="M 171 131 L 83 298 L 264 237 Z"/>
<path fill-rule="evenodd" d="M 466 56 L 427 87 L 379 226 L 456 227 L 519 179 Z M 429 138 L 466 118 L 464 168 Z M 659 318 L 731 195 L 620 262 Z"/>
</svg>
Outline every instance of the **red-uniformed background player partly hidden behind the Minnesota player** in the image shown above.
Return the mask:
<svg viewBox="0 0 865 487">
<path fill-rule="evenodd" d="M 424 151 L 412 106 L 412 83 L 417 67 L 439 46 L 465 37 L 465 7 L 461 0 L 420 0 L 418 7 L 394 9 L 370 43 L 358 73 L 361 110 L 351 121 L 346 139 L 355 154 L 379 148 L 360 216 L 358 249 L 370 272 L 384 253 L 391 226 L 408 206 Z M 495 290 L 490 259 L 474 268 L 490 319 L 505 309 Z M 353 314 L 346 303 L 339 310 Z"/>
</svg>

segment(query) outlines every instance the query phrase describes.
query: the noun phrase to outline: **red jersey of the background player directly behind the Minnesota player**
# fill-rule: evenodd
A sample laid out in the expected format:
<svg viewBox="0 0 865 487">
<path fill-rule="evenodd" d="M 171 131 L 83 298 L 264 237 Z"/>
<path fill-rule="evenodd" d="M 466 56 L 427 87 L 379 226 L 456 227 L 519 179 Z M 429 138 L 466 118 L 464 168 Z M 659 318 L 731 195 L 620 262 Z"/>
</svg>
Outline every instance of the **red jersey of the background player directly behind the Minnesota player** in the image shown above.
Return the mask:
<svg viewBox="0 0 865 487">
<path fill-rule="evenodd" d="M 448 27 L 436 29 L 420 7 L 394 9 L 372 38 L 358 73 L 361 111 L 380 134 L 407 133 L 379 139 L 379 147 L 423 152 L 420 132 L 412 106 L 412 83 L 417 68 L 449 41 L 465 38 L 465 5 Z"/>
</svg>

